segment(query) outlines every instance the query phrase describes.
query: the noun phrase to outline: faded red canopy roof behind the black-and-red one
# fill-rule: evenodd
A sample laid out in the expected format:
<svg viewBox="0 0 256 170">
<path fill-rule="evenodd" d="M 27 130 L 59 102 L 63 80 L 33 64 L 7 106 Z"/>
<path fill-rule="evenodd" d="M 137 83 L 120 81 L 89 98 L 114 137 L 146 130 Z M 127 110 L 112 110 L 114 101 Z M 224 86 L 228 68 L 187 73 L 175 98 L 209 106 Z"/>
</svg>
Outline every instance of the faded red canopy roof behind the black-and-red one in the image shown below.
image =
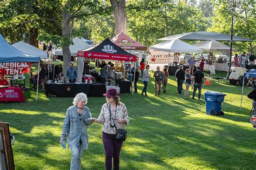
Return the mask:
<svg viewBox="0 0 256 170">
<path fill-rule="evenodd" d="M 114 44 L 121 47 L 123 50 L 147 51 L 147 46 L 136 42 L 136 40 L 130 38 L 123 32 L 120 32 L 116 37 L 113 37 L 111 40 Z"/>
</svg>

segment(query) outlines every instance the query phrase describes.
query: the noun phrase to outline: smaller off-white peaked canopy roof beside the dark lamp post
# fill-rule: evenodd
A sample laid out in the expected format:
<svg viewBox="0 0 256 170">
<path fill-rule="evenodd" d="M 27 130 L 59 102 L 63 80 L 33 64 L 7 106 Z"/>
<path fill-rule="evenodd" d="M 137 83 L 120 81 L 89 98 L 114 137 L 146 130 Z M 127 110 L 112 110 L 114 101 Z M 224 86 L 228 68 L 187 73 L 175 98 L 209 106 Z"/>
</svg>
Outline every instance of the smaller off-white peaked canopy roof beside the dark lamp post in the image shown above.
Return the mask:
<svg viewBox="0 0 256 170">
<path fill-rule="evenodd" d="M 204 42 L 192 44 L 193 46 L 199 47 L 201 50 L 206 51 L 230 51 L 230 46 L 225 44 L 221 44 L 214 39 L 206 40 Z M 237 49 L 232 49 L 233 51 L 237 51 Z"/>
</svg>

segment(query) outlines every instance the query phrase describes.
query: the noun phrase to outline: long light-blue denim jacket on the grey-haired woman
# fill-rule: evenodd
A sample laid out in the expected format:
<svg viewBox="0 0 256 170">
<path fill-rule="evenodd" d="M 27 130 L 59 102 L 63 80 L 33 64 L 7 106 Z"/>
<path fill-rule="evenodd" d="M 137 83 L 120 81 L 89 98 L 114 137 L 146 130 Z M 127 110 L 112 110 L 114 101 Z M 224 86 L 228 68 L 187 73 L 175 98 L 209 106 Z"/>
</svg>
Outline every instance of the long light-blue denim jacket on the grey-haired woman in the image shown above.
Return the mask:
<svg viewBox="0 0 256 170">
<path fill-rule="evenodd" d="M 87 149 L 89 139 L 87 125 L 92 124 L 89 118 L 91 118 L 91 113 L 88 107 L 84 107 L 82 115 L 79 116 L 77 106 L 70 106 L 66 111 L 60 140 L 65 140 L 66 137 L 69 147 L 77 147 L 79 149 L 79 139 L 81 139 L 83 149 Z"/>
</svg>

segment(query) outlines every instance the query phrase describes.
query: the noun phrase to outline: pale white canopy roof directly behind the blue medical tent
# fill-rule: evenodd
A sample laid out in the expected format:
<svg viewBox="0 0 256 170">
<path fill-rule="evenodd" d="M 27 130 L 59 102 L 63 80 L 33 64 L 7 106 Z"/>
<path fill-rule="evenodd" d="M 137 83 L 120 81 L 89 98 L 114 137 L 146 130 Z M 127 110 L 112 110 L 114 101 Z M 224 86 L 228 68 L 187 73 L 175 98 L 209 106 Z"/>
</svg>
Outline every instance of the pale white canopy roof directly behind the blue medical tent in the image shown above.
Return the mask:
<svg viewBox="0 0 256 170">
<path fill-rule="evenodd" d="M 33 46 L 33 45 L 30 45 L 28 43 L 24 43 L 24 42 L 18 42 L 18 43 L 15 43 L 15 44 L 12 44 L 13 47 L 15 47 L 15 49 L 23 52 L 23 53 L 26 53 L 28 55 L 31 55 L 31 56 L 39 56 L 40 58 L 48 58 L 47 57 L 47 53 L 38 49 L 37 47 Z"/>
</svg>

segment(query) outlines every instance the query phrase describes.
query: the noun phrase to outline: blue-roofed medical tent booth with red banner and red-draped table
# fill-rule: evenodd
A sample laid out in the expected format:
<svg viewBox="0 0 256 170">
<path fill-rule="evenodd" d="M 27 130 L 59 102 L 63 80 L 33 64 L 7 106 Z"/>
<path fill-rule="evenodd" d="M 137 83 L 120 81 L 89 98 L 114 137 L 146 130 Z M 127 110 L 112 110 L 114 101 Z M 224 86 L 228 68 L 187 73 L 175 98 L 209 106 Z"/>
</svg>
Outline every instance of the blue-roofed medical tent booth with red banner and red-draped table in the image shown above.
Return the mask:
<svg viewBox="0 0 256 170">
<path fill-rule="evenodd" d="M 18 74 L 30 72 L 30 63 L 38 63 L 39 71 L 40 57 L 30 56 L 26 53 L 18 51 L 15 47 L 8 44 L 2 35 L 0 35 L 0 79 L 3 75 L 11 75 L 11 79 L 15 79 Z M 4 81 L 4 80 L 2 80 Z M 6 81 L 6 80 L 5 80 Z M 0 101 L 25 101 L 21 87 L 0 86 Z M 38 82 L 37 82 L 38 97 Z M 37 100 L 36 97 L 36 100 Z"/>
</svg>

